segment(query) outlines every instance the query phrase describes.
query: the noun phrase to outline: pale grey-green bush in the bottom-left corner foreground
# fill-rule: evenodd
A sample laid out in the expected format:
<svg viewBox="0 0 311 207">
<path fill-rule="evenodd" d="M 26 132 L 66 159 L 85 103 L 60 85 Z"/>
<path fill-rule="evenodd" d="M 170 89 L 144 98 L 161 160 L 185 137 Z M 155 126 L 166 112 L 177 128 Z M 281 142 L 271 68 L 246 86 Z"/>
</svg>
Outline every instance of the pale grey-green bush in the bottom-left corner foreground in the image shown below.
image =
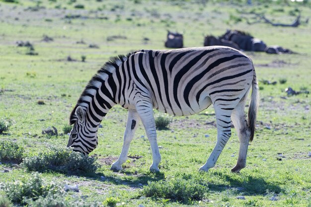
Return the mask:
<svg viewBox="0 0 311 207">
<path fill-rule="evenodd" d="M 7 198 L 14 203 L 26 204 L 30 200 L 36 200 L 40 196 L 62 194 L 63 188 L 54 182 L 47 183 L 42 180 L 39 173 L 23 176 L 21 180 L 4 183 L 1 190 Z"/>
</svg>

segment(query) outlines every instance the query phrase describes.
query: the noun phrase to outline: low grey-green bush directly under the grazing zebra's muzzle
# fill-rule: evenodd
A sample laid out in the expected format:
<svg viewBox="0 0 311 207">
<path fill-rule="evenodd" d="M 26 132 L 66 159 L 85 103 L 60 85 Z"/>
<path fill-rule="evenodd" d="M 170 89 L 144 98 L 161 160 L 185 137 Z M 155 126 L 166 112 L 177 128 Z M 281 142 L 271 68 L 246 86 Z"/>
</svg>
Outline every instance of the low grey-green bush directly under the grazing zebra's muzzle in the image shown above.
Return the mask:
<svg viewBox="0 0 311 207">
<path fill-rule="evenodd" d="M 67 147 L 50 147 L 37 156 L 24 159 L 22 166 L 28 171 L 55 171 L 65 174 L 94 173 L 96 159 Z"/>
</svg>

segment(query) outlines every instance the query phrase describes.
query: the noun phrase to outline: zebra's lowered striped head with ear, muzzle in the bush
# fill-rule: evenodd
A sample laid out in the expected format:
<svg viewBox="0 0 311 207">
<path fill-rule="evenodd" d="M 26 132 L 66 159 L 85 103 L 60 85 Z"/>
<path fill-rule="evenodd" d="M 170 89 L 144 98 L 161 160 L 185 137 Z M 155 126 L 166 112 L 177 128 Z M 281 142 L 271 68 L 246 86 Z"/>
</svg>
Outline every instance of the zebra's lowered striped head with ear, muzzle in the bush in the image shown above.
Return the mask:
<svg viewBox="0 0 311 207">
<path fill-rule="evenodd" d="M 97 146 L 97 129 L 87 124 L 86 112 L 81 106 L 77 107 L 75 117 L 75 121 L 71 119 L 74 127 L 70 132 L 67 147 L 86 155 Z"/>
</svg>

